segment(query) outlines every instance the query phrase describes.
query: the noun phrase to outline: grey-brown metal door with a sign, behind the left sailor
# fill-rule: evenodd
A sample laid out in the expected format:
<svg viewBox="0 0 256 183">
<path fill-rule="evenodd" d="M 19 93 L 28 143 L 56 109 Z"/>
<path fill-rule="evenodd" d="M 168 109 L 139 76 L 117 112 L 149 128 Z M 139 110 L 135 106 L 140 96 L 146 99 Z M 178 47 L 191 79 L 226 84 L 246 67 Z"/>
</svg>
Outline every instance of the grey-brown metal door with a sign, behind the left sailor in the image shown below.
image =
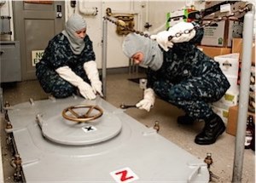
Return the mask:
<svg viewBox="0 0 256 183">
<path fill-rule="evenodd" d="M 22 81 L 36 79 L 35 63 L 65 25 L 65 1 L 13 1 L 15 40 L 20 41 Z"/>
</svg>

